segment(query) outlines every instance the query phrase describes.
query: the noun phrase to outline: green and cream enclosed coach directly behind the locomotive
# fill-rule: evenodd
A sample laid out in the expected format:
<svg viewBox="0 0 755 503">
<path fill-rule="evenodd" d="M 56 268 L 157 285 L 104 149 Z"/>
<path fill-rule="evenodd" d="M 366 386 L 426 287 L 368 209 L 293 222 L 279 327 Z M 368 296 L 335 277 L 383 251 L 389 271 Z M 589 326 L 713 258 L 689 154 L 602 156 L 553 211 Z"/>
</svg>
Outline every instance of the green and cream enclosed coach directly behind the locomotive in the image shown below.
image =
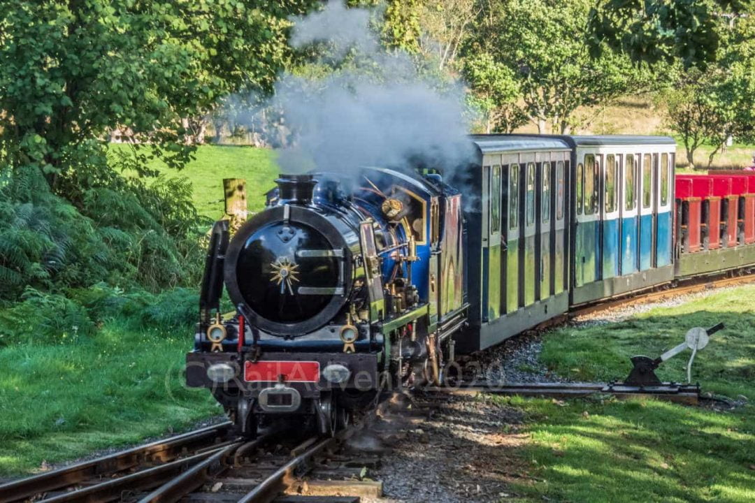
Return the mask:
<svg viewBox="0 0 755 503">
<path fill-rule="evenodd" d="M 547 136 L 472 136 L 466 195 L 468 330 L 460 351 L 488 348 L 569 308 L 572 149 Z"/>
</svg>

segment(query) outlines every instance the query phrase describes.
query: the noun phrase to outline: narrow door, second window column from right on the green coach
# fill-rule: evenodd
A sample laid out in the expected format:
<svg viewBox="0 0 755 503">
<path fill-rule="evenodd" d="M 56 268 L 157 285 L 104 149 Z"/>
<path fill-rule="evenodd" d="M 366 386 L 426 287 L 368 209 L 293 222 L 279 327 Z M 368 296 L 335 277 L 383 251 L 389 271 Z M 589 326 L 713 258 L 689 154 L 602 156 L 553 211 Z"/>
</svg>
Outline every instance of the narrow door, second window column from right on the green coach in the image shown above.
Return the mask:
<svg viewBox="0 0 755 503">
<path fill-rule="evenodd" d="M 546 155 L 550 159 L 550 155 Z M 539 164 L 540 173 L 538 176 L 538 213 L 539 232 L 538 232 L 538 277 L 540 285 L 538 289 L 538 299 L 547 299 L 550 297 L 551 285 L 553 284 L 553 253 L 552 246 L 552 228 L 553 228 L 553 167 L 550 160 L 543 161 Z"/>
</svg>

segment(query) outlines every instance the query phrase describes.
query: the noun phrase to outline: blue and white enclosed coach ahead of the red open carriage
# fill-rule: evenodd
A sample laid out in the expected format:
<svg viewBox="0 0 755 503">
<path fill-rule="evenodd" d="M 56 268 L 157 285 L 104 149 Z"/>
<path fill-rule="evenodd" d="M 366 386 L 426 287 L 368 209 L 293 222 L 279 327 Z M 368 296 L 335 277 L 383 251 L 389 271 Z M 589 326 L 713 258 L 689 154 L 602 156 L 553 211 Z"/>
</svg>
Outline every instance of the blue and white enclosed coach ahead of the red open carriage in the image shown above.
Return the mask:
<svg viewBox="0 0 755 503">
<path fill-rule="evenodd" d="M 562 136 L 572 147 L 572 305 L 673 280 L 667 136 Z"/>
</svg>

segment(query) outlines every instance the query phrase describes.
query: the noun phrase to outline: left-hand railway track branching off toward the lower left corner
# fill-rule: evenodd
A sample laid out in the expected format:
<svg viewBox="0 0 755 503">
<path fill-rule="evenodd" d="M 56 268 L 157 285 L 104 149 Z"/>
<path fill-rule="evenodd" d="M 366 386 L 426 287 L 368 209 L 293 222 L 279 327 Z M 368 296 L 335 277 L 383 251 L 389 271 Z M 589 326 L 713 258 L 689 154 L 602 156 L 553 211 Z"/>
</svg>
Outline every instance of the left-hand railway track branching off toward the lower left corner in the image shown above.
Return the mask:
<svg viewBox="0 0 755 503">
<path fill-rule="evenodd" d="M 0 503 L 11 501 L 108 501 L 122 491 L 157 483 L 226 445 L 230 422 L 125 449 L 97 459 L 0 484 Z M 102 486 L 102 498 L 79 492 Z M 79 493 L 77 495 L 77 493 Z M 82 496 L 82 498 L 78 498 Z"/>
</svg>

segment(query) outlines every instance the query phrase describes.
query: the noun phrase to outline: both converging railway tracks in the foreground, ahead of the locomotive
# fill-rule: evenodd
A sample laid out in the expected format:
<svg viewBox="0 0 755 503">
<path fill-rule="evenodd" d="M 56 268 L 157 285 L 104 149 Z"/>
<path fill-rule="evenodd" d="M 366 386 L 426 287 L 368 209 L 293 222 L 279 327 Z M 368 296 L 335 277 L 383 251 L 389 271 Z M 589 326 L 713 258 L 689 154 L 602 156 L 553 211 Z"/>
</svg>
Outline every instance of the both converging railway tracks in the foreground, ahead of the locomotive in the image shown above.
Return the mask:
<svg viewBox="0 0 755 503">
<path fill-rule="evenodd" d="M 291 444 L 295 434 L 290 430 L 246 441 L 228 436 L 229 426 L 203 428 L 7 483 L 0 486 L 0 501 L 358 503 L 360 496 L 382 495 L 382 483 L 362 480 L 379 459 L 354 458 L 341 449 L 356 426 L 336 437 L 309 437 L 289 449 L 282 444 Z M 303 475 L 312 480 L 301 479 Z"/>
</svg>

